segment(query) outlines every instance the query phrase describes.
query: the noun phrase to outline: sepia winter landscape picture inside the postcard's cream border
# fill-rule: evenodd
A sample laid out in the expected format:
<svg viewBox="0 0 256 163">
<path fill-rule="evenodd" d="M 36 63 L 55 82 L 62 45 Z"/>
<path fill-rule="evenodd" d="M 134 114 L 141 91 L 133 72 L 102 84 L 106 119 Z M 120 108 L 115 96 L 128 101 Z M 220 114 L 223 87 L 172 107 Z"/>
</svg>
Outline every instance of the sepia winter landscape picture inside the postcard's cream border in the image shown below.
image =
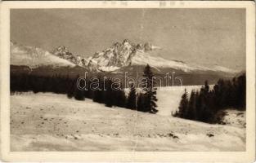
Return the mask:
<svg viewBox="0 0 256 163">
<path fill-rule="evenodd" d="M 248 152 L 248 8 L 120 3 L 9 8 L 10 152 Z"/>
</svg>

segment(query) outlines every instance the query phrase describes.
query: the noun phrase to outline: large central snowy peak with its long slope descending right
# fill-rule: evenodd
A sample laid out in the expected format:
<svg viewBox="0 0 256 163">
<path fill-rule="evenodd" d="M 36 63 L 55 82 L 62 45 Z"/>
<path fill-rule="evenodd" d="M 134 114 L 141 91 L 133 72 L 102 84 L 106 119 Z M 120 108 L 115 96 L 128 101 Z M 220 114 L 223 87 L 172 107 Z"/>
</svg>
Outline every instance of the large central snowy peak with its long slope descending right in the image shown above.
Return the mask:
<svg viewBox="0 0 256 163">
<path fill-rule="evenodd" d="M 106 48 L 106 50 L 92 55 L 92 58 L 88 59 L 88 68 L 97 72 L 111 72 L 129 65 L 145 66 L 146 64 L 150 64 L 151 67 L 159 71 L 161 68 L 174 68 L 186 73 L 191 71 L 235 73 L 229 68 L 220 66 L 206 68 L 202 66 L 192 66 L 174 59 L 164 59 L 158 56 L 157 51 L 159 50 L 161 50 L 161 47 L 153 46 L 150 42 L 135 44 L 125 39 L 122 43 L 115 42 L 110 48 Z"/>
</svg>

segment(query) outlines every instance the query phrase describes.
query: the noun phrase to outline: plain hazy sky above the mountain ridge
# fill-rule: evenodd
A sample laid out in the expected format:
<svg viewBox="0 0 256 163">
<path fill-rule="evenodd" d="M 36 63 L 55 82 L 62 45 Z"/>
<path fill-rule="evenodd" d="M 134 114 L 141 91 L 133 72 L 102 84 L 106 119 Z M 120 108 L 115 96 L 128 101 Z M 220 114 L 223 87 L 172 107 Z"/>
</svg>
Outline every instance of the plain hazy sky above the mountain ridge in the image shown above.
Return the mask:
<svg viewBox="0 0 256 163">
<path fill-rule="evenodd" d="M 91 56 L 125 38 L 165 59 L 245 69 L 245 9 L 11 10 L 11 41 L 22 45 Z"/>
</svg>

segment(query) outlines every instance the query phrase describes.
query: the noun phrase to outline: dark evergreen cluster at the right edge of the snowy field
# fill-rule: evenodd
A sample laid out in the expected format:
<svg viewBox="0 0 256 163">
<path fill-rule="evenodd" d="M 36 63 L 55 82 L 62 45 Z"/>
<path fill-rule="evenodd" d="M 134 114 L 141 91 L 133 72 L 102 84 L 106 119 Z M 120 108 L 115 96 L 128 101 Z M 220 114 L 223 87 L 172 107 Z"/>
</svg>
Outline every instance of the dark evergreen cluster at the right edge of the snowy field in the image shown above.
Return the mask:
<svg viewBox="0 0 256 163">
<path fill-rule="evenodd" d="M 178 111 L 175 117 L 218 123 L 220 117 L 218 112 L 227 108 L 245 110 L 246 104 L 246 77 L 234 77 L 232 80 L 220 79 L 213 89 L 209 89 L 205 81 L 200 91 L 191 91 L 190 97 L 185 90 L 182 95 Z"/>
</svg>

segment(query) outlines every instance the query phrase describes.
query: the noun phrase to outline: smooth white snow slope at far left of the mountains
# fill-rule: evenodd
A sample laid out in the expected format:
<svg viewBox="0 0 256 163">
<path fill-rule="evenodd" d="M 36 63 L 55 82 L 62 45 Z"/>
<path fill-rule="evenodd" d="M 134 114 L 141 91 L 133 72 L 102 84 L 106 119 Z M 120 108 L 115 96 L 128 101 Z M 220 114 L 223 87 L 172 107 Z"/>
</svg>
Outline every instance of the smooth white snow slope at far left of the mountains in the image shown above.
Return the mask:
<svg viewBox="0 0 256 163">
<path fill-rule="evenodd" d="M 22 46 L 13 42 L 10 43 L 10 46 L 12 65 L 26 65 L 29 68 L 38 68 L 40 66 L 50 66 L 52 68 L 75 66 L 70 61 L 61 59 L 38 47 Z"/>
</svg>

